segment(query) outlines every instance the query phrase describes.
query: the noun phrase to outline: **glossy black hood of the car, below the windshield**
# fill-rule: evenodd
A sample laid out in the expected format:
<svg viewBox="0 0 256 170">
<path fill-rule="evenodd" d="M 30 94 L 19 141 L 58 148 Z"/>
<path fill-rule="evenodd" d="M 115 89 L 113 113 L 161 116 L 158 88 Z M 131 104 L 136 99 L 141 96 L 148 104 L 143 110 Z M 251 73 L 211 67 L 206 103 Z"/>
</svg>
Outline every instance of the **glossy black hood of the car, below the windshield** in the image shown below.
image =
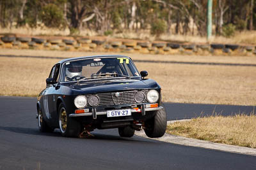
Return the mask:
<svg viewBox="0 0 256 170">
<path fill-rule="evenodd" d="M 105 80 L 80 83 L 79 85 L 73 84 L 70 85 L 70 88 L 74 90 L 81 90 L 83 94 L 96 94 L 100 92 L 148 89 L 150 87 L 157 87 L 156 81 L 154 81 L 156 85 L 152 86 L 152 83 L 153 82 L 147 83 L 143 80 Z"/>
</svg>

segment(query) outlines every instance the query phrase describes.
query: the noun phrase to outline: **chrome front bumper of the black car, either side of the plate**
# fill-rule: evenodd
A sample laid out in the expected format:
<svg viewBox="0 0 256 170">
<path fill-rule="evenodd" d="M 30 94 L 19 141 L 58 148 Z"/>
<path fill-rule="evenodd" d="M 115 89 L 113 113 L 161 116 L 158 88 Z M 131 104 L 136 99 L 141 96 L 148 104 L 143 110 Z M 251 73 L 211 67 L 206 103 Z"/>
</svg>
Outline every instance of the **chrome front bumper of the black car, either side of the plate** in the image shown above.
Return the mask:
<svg viewBox="0 0 256 170">
<path fill-rule="evenodd" d="M 144 108 L 145 111 L 156 111 L 156 110 L 162 110 L 163 107 L 159 106 L 158 108 Z M 88 113 L 80 113 L 80 114 L 76 114 L 76 113 L 72 113 L 69 115 L 69 117 L 86 117 L 86 116 L 92 116 L 93 118 L 96 119 L 97 115 L 107 115 L 107 111 L 99 111 L 97 112 L 95 110 L 96 113 L 94 112 L 88 112 Z M 138 110 L 131 110 L 132 113 L 137 112 L 137 113 L 141 113 L 143 115 L 143 111 L 138 111 Z M 145 114 L 144 114 L 145 115 Z"/>
</svg>

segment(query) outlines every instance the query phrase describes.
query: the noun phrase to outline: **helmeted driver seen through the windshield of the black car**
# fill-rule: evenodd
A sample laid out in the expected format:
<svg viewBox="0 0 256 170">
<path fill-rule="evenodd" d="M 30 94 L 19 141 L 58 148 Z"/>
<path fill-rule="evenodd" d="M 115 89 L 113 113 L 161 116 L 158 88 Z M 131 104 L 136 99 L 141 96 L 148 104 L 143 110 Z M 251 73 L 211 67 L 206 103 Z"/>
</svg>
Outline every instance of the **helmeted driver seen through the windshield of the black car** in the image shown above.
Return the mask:
<svg viewBox="0 0 256 170">
<path fill-rule="evenodd" d="M 67 80 L 72 80 L 74 76 L 81 76 L 82 69 L 83 69 L 83 66 L 79 62 L 70 62 L 70 64 L 67 65 L 67 69 L 66 69 Z"/>
</svg>

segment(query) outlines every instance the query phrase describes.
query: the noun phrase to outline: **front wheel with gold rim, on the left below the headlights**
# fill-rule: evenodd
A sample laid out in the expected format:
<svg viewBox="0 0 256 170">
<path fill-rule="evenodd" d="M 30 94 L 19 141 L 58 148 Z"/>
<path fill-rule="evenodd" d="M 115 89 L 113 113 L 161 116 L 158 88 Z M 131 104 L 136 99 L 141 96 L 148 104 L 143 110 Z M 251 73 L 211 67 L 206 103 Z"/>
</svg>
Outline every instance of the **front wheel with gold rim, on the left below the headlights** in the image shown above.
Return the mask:
<svg viewBox="0 0 256 170">
<path fill-rule="evenodd" d="M 63 103 L 60 104 L 58 113 L 61 135 L 65 137 L 78 137 L 82 132 L 81 123 L 77 122 L 72 117 L 68 117 L 68 113 Z M 62 114 L 63 116 L 61 117 Z"/>
</svg>

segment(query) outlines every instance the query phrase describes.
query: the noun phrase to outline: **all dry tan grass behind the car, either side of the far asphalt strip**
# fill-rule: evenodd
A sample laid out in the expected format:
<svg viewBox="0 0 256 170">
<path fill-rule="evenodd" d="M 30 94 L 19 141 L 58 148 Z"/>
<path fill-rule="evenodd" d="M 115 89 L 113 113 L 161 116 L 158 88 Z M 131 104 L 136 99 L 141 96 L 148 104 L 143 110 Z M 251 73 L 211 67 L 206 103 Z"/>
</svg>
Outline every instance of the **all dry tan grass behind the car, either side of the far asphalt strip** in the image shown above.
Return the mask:
<svg viewBox="0 0 256 170">
<path fill-rule="evenodd" d="M 74 57 L 100 53 L 40 50 L 1 50 L 0 54 Z M 106 53 L 105 53 L 106 54 Z M 124 54 L 126 55 L 126 54 Z M 181 55 L 127 54 L 132 59 L 211 60 L 214 62 L 256 63 L 255 57 L 202 57 Z M 233 60 L 234 59 L 234 60 Z M 244 60 L 243 60 L 244 59 Z M 45 79 L 59 59 L 0 57 L 0 95 L 36 96 L 45 87 Z M 164 102 L 255 105 L 256 67 L 207 66 L 188 64 L 136 63 L 148 78 L 163 89 Z"/>
</svg>

